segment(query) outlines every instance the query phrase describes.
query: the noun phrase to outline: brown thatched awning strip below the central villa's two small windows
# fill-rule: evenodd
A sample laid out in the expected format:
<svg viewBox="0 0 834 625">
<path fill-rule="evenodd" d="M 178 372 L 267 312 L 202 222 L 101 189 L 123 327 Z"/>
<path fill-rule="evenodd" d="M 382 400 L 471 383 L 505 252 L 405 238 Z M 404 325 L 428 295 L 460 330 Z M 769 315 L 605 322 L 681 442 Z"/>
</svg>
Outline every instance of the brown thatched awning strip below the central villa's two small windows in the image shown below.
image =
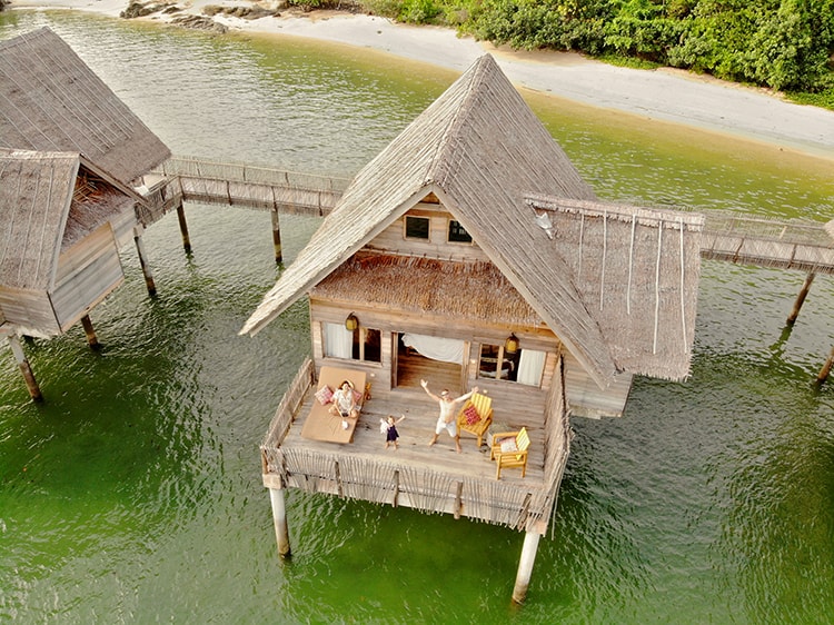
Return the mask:
<svg viewBox="0 0 834 625">
<path fill-rule="evenodd" d="M 537 327 L 542 318 L 492 262 L 387 254 L 355 255 L 311 296 L 387 310 Z"/>
</svg>

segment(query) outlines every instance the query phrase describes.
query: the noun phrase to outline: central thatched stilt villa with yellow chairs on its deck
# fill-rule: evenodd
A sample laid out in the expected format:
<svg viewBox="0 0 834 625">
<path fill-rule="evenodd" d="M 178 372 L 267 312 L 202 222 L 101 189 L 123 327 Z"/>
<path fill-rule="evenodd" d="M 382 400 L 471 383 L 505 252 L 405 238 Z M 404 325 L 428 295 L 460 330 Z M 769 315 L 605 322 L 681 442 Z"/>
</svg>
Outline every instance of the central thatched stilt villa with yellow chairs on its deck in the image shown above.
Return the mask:
<svg viewBox="0 0 834 625">
<path fill-rule="evenodd" d="M 622 415 L 634 375 L 688 375 L 702 224 L 598 199 L 495 60 L 477 60 L 359 171 L 241 330 L 309 300 L 311 357 L 261 445 L 279 553 L 286 488 L 446 513 L 525 532 L 523 601 L 569 416 Z M 345 379 L 358 419 L 321 403 Z M 461 454 L 445 434 L 428 446 L 438 406 L 421 379 L 478 388 L 457 417 Z M 406 415 L 396 452 L 389 415 Z"/>
</svg>

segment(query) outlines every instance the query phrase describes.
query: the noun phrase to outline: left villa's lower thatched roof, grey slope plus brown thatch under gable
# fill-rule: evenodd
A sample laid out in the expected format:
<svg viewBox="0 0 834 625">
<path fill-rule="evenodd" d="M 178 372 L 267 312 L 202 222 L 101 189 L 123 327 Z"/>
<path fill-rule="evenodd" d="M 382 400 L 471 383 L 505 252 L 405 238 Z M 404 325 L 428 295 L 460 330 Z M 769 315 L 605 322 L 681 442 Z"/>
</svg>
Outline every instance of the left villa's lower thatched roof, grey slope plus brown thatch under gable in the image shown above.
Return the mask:
<svg viewBox="0 0 834 625">
<path fill-rule="evenodd" d="M 0 149 L 0 286 L 49 290 L 60 252 L 137 197 L 78 152 Z"/>
</svg>

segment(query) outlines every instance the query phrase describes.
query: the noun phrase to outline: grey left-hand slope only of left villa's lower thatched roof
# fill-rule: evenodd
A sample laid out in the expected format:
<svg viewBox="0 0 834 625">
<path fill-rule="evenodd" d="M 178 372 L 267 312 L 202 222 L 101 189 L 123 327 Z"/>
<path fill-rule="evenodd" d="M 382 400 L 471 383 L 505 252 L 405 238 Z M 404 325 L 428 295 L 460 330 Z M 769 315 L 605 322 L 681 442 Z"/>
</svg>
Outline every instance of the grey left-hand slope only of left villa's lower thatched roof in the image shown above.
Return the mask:
<svg viewBox="0 0 834 625">
<path fill-rule="evenodd" d="M 0 285 L 52 286 L 79 167 L 78 153 L 0 153 Z"/>
</svg>

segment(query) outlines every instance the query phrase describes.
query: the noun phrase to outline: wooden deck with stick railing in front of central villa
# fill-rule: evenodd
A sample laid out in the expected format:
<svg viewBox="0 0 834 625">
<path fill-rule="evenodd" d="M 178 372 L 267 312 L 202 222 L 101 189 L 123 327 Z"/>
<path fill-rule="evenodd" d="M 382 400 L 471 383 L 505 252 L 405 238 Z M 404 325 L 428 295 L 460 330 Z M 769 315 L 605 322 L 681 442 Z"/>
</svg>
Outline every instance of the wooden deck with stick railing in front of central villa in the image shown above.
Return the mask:
<svg viewBox="0 0 834 625">
<path fill-rule="evenodd" d="M 420 367 L 425 364 L 414 360 L 410 365 L 404 367 L 400 364 L 400 376 L 406 373 L 405 377 L 419 384 L 420 377 L 425 377 L 420 376 Z M 489 459 L 487 446 L 478 449 L 475 437 L 461 436 L 461 454 L 456 453 L 454 440 L 446 433 L 434 446 L 428 445 L 438 407 L 419 386 L 371 391 L 350 444 L 301 437 L 305 418 L 316 401 L 309 361 L 306 367 L 307 371 L 302 368 L 297 384 L 285 396 L 261 446 L 265 486 L 301 488 L 423 512 L 447 513 L 515 529 L 535 525 L 539 533 L 544 533 L 569 447 L 566 429 L 557 437 L 548 437 L 543 416 L 544 399 L 507 404 L 500 394 L 494 397 L 494 424 L 507 429 L 526 426 L 532 439 L 526 477 L 522 477 L 520 469 L 504 469 L 500 480 L 497 480 L 496 465 Z M 433 390 L 440 389 L 443 383 L 435 380 L 440 380 L 443 375 L 455 374 L 446 369 L 438 377 L 434 371 L 428 376 Z M 292 395 L 297 396 L 295 400 Z M 294 405 L 297 406 L 295 410 Z M 388 415 L 406 417 L 397 426 L 400 434 L 398 449 L 385 448 L 385 436 L 379 429 L 380 419 Z M 565 418 L 558 425 L 565 427 L 566 424 Z M 550 443 L 548 449 L 548 438 L 565 443 Z"/>
</svg>

